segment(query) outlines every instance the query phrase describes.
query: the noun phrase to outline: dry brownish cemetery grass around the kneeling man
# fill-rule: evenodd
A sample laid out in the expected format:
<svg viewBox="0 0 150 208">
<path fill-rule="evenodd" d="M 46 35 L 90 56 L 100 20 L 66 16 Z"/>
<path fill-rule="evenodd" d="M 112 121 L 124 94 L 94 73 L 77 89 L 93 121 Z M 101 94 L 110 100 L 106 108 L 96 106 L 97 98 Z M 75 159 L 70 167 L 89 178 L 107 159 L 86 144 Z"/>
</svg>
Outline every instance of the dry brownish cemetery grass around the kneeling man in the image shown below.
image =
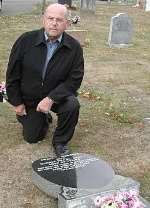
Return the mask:
<svg viewBox="0 0 150 208">
<path fill-rule="evenodd" d="M 134 22 L 132 45 L 109 48 L 110 18 L 127 12 Z M 149 13 L 132 6 L 98 4 L 96 13 L 77 13 L 87 29 L 85 77 L 79 91 L 81 113 L 70 143 L 73 152 L 96 155 L 108 161 L 116 174 L 141 184 L 140 193 L 150 201 L 150 26 Z M 0 17 L 0 81 L 10 49 L 24 31 L 39 28 L 39 15 Z M 53 115 L 54 116 L 54 115 Z M 31 182 L 31 162 L 53 157 L 51 138 L 54 122 L 45 140 L 29 145 L 8 103 L 0 104 L 0 207 L 55 208 L 57 201 Z"/>
</svg>

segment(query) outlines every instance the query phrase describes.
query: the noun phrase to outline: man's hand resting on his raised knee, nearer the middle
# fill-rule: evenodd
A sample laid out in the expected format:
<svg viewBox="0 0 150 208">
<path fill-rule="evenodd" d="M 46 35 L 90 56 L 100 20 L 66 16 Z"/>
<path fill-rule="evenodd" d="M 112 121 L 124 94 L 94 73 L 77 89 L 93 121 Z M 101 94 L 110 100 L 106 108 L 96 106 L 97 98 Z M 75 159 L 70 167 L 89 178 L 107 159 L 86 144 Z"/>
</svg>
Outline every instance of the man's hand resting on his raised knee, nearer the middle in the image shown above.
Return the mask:
<svg viewBox="0 0 150 208">
<path fill-rule="evenodd" d="M 41 102 L 39 102 L 36 110 L 43 112 L 43 113 L 48 113 L 53 105 L 54 101 L 51 100 L 49 97 L 45 97 Z"/>
</svg>

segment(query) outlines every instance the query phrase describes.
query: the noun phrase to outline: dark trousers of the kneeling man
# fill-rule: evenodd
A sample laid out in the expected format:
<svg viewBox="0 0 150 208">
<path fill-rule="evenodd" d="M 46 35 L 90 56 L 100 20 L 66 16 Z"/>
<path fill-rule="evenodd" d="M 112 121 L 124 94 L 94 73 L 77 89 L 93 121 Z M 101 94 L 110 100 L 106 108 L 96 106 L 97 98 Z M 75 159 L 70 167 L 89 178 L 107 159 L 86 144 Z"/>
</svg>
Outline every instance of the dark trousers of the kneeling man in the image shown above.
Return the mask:
<svg viewBox="0 0 150 208">
<path fill-rule="evenodd" d="M 57 115 L 57 126 L 52 144 L 67 144 L 72 138 L 78 122 L 80 104 L 75 96 L 68 97 L 61 104 L 54 104 L 52 111 Z M 47 114 L 37 112 L 36 108 L 26 106 L 27 115 L 17 116 L 23 126 L 24 139 L 29 143 L 42 140 L 48 130 Z"/>
</svg>

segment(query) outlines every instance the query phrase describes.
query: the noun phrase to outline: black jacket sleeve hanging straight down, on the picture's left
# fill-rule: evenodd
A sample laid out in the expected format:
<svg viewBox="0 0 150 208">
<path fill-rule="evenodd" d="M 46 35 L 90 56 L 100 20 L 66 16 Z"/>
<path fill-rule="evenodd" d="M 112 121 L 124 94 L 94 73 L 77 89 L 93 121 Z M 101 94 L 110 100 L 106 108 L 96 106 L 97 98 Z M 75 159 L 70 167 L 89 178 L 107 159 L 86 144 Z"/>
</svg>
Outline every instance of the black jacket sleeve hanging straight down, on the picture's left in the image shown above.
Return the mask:
<svg viewBox="0 0 150 208">
<path fill-rule="evenodd" d="M 8 102 L 13 106 L 23 103 L 20 91 L 22 49 L 23 44 L 21 36 L 12 47 L 6 71 L 6 91 Z"/>
</svg>

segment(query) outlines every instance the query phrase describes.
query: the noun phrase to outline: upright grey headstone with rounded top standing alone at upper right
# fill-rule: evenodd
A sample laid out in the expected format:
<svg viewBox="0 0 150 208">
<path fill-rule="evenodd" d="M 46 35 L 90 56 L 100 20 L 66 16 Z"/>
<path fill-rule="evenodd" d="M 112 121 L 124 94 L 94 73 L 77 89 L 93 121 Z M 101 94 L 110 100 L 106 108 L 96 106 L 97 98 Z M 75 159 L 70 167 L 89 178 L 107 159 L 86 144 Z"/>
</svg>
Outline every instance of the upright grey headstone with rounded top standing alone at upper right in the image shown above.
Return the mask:
<svg viewBox="0 0 150 208">
<path fill-rule="evenodd" d="M 111 18 L 108 44 L 110 47 L 128 46 L 132 40 L 133 24 L 125 13 L 118 13 Z"/>
</svg>

